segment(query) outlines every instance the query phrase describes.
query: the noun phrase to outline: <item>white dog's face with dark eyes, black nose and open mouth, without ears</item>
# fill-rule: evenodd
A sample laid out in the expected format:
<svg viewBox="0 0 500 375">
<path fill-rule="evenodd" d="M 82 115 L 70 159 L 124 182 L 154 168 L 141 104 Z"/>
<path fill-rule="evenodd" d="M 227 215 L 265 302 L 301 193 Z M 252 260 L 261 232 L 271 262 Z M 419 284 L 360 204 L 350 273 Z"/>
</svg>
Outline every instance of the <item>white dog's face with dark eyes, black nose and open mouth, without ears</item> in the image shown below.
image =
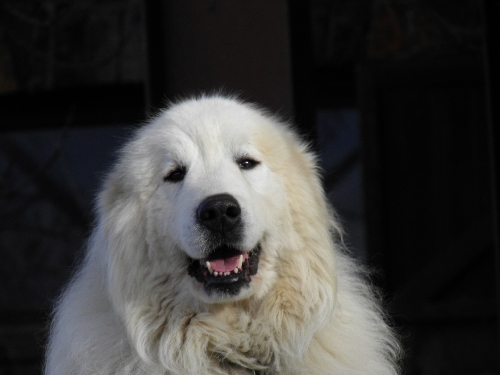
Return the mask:
<svg viewBox="0 0 500 375">
<path fill-rule="evenodd" d="M 262 141 L 268 122 L 214 99 L 174 107 L 151 132 L 161 175 L 151 225 L 183 252 L 192 292 L 205 302 L 247 298 L 270 282 L 261 253 L 286 200 Z"/>
</svg>

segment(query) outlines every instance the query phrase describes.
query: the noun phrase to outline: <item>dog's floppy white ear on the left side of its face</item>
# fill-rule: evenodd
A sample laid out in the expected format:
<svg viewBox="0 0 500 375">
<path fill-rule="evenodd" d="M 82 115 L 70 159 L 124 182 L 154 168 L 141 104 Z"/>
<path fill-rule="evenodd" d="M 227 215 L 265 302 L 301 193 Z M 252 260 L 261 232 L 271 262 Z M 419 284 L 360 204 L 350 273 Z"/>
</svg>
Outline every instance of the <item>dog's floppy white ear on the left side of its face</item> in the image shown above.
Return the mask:
<svg viewBox="0 0 500 375">
<path fill-rule="evenodd" d="M 93 247 L 106 254 L 108 293 L 120 313 L 124 301 L 144 292 L 152 272 L 147 205 L 161 176 L 151 137 L 149 126 L 122 148 L 97 202 L 101 234 Z"/>
</svg>

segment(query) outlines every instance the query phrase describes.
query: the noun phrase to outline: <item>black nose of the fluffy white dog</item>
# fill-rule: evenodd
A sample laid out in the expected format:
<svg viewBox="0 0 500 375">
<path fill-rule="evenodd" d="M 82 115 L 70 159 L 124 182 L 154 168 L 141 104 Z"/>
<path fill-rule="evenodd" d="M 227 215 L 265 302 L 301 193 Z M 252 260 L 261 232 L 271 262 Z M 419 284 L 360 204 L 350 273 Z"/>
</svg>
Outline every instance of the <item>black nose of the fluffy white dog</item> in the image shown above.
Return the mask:
<svg viewBox="0 0 500 375">
<path fill-rule="evenodd" d="M 198 206 L 198 222 L 213 232 L 226 233 L 241 221 L 238 201 L 229 194 L 212 195 Z"/>
</svg>

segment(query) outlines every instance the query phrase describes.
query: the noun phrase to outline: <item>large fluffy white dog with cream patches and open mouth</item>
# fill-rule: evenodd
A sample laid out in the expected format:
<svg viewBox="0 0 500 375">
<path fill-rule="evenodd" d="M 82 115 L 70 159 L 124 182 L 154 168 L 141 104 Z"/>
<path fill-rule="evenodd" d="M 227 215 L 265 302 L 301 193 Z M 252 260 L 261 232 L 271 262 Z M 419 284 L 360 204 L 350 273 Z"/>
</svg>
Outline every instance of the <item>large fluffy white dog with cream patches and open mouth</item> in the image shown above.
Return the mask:
<svg viewBox="0 0 500 375">
<path fill-rule="evenodd" d="M 45 373 L 397 374 L 339 231 L 289 126 L 231 98 L 172 105 L 106 179 Z"/>
</svg>

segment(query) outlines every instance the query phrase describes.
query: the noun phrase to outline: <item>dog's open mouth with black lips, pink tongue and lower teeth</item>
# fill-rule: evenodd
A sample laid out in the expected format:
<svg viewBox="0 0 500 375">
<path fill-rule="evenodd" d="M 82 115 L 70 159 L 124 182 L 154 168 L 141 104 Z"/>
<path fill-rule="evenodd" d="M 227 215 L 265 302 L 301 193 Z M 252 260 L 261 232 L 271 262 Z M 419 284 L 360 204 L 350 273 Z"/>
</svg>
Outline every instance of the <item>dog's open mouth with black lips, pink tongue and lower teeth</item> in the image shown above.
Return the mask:
<svg viewBox="0 0 500 375">
<path fill-rule="evenodd" d="M 188 274 L 203 283 L 207 294 L 236 295 L 257 273 L 259 254 L 259 245 L 250 252 L 222 245 L 206 258 L 189 258 Z"/>
</svg>

